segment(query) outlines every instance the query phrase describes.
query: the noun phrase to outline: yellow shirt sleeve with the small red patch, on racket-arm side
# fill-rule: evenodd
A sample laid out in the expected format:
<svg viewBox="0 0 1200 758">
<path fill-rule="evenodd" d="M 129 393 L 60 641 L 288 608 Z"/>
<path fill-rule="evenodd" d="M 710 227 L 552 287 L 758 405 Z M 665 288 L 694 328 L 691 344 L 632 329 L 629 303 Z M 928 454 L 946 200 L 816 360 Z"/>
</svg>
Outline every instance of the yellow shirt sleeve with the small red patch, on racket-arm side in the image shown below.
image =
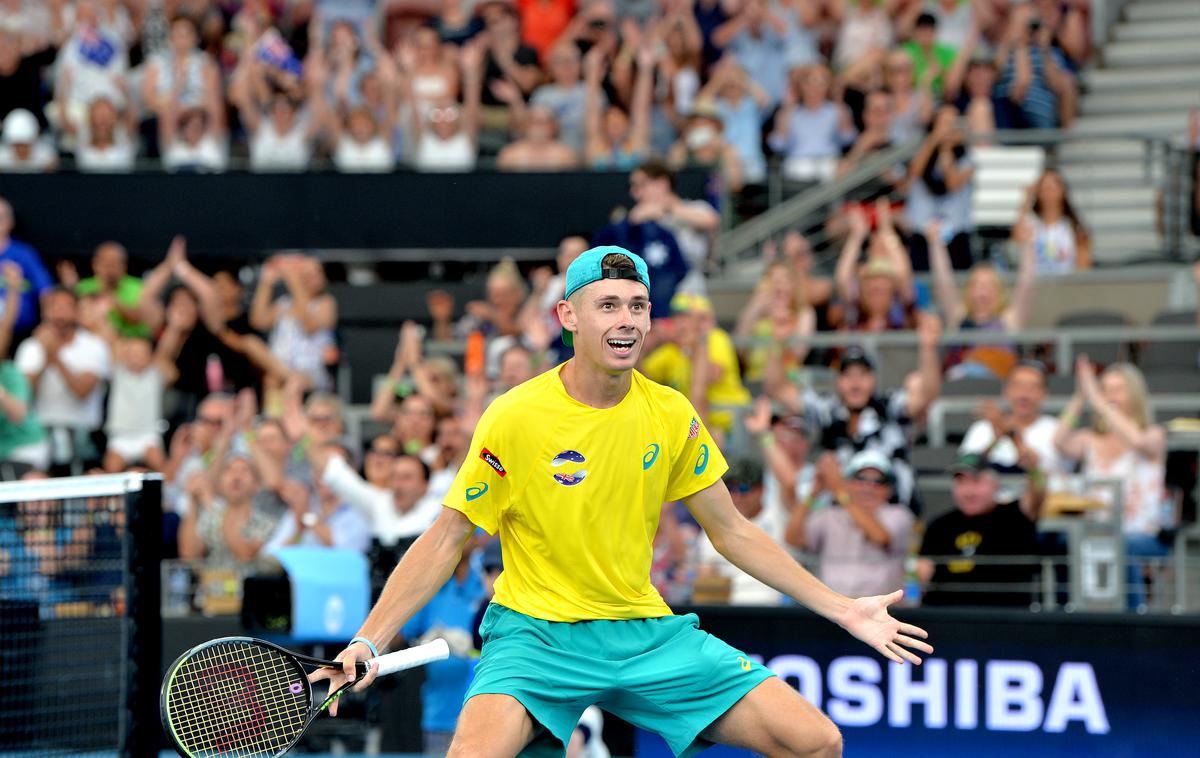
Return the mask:
<svg viewBox="0 0 1200 758">
<path fill-rule="evenodd" d="M 497 398 L 470 438 L 470 449 L 462 462 L 443 505 L 462 512 L 487 534 L 496 534 L 500 513 L 509 506 L 514 474 L 505 461 L 516 459 L 511 437 L 504 433 L 504 409 L 509 403 Z"/>
</svg>

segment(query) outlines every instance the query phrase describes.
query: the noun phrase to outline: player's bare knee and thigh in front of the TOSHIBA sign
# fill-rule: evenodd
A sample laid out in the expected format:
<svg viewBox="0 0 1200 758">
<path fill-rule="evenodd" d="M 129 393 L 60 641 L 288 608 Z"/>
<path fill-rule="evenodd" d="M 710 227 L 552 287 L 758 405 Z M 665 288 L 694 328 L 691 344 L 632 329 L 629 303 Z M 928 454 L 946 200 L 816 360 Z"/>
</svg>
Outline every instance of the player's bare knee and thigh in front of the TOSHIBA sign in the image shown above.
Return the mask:
<svg viewBox="0 0 1200 758">
<path fill-rule="evenodd" d="M 841 756 L 838 727 L 817 706 L 775 676 L 748 692 L 704 729 L 703 736 L 769 758 Z"/>
</svg>

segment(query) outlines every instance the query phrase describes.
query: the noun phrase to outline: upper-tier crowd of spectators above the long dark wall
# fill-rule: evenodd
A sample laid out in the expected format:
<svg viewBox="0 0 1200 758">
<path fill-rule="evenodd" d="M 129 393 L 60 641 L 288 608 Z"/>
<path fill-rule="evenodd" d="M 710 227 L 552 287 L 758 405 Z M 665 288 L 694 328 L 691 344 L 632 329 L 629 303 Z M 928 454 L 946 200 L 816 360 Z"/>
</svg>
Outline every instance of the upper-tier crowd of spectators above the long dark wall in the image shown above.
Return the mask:
<svg viewBox="0 0 1200 758">
<path fill-rule="evenodd" d="M 5 0 L 0 170 L 629 170 L 761 187 L 1067 126 L 1087 0 Z M 844 158 L 845 156 L 845 158 Z"/>
</svg>

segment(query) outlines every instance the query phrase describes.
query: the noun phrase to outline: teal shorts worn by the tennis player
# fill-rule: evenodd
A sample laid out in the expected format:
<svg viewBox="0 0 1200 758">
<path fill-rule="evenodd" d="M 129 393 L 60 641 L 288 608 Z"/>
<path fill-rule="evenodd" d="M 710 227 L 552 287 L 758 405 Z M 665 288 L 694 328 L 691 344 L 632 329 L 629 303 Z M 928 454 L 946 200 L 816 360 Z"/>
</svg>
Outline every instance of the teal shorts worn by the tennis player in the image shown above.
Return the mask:
<svg viewBox="0 0 1200 758">
<path fill-rule="evenodd" d="M 509 694 L 524 705 L 536 723 L 522 756 L 564 754 L 593 704 L 691 756 L 710 745 L 697 739 L 706 727 L 774 675 L 701 631 L 695 614 L 568 624 L 492 603 L 480 633 L 466 699 Z"/>
</svg>

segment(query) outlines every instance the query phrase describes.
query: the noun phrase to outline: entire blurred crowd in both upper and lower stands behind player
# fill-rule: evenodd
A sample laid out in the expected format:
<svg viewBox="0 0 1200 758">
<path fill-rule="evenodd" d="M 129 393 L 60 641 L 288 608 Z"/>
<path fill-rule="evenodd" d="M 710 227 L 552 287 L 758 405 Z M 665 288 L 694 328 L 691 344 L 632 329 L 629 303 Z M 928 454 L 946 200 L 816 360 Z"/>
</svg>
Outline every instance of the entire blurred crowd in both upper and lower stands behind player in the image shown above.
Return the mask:
<svg viewBox="0 0 1200 758">
<path fill-rule="evenodd" d="M 1044 586 L 1064 568 L 1043 559 L 1068 546 L 1039 523 L 1094 511 L 1118 519 L 1135 558 L 1121 604 L 1145 610 L 1163 602 L 1162 566 L 1145 559 L 1170 555 L 1194 519 L 1194 467 L 1192 480 L 1169 471 L 1152 402 L 1200 390 L 1200 344 L 1164 362 L 1114 338 L 1064 362 L 1052 339 L 1022 338 L 1038 300 L 1093 266 L 1096 235 L 1054 168 L 1021 186 L 986 251 L 972 198 L 972 146 L 1079 115 L 1091 12 L 0 0 L 0 173 L 594 169 L 628 175 L 630 195 L 552 261 L 492 265 L 470 297 L 431 282 L 421 317 L 388 335 L 390 365 L 373 356 L 370 397 L 349 366 L 378 344 L 340 324 L 365 290 L 331 288 L 343 271 L 319 253 L 233 264 L 190 255 L 179 236 L 131 259 L 114 231 L 74 259 L 23 240 L 20 198 L 0 199 L 0 474 L 158 471 L 168 558 L 240 578 L 280 548 L 325 546 L 367 554 L 378 584 L 478 455 L 488 402 L 571 356 L 554 314 L 563 273 L 616 243 L 650 267 L 641 371 L 697 408 L 743 515 L 835 589 L 1052 603 L 1061 592 Z M 1178 131 L 1200 146 L 1200 120 Z M 905 144 L 917 148 L 818 224 L 756 246 L 756 281 L 718 302 L 731 272 L 714 265 L 716 236 L 762 213 L 769 175 L 798 193 Z M 706 181 L 682 197 L 689 170 Z M 1186 282 L 1200 287 L 1200 264 Z M 901 350 L 887 356 L 863 339 L 893 333 Z M 947 397 L 970 401 L 968 417 L 935 433 Z M 1098 480 L 1118 483 L 1080 483 Z M 74 570 L 112 547 L 96 527 L 110 516 L 43 506 L 0 511 L 0 594 L 71 597 Z M 670 603 L 790 602 L 733 570 L 682 504 L 664 505 L 655 546 Z M 403 637 L 470 631 L 502 563 L 481 535 Z M 451 710 L 428 710 L 426 732 L 451 730 Z"/>
</svg>

